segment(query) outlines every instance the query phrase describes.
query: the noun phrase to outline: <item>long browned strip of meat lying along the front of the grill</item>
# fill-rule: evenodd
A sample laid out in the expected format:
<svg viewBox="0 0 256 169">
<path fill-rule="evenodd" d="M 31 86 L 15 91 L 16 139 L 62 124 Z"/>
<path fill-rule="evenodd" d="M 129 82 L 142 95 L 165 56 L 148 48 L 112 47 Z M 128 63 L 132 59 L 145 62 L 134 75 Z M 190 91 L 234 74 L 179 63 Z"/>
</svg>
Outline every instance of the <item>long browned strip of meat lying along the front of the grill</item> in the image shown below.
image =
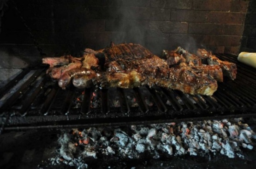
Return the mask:
<svg viewBox="0 0 256 169">
<path fill-rule="evenodd" d="M 151 69 L 152 71 L 152 69 Z M 73 84 L 77 88 L 90 87 L 92 84 L 101 88 L 120 87 L 133 88 L 143 85 L 149 87 L 160 86 L 168 89 L 180 90 L 184 93 L 192 95 L 201 94 L 211 96 L 217 90 L 217 82 L 214 78 L 205 73 L 195 73 L 192 70 L 180 68 L 156 69 L 147 73 L 138 73 L 133 70 L 131 72 L 101 72 L 97 75 L 81 76 L 73 79 Z"/>
</svg>

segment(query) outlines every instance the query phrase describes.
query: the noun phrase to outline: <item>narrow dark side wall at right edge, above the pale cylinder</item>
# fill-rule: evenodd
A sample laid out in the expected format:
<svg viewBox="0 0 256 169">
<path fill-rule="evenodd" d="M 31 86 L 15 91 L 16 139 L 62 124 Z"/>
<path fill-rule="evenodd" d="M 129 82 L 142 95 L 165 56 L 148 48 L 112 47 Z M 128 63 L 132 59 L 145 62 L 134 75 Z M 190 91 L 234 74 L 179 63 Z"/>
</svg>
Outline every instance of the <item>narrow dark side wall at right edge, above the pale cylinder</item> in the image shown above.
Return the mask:
<svg viewBox="0 0 256 169">
<path fill-rule="evenodd" d="M 250 0 L 240 51 L 256 52 L 256 0 Z"/>
</svg>

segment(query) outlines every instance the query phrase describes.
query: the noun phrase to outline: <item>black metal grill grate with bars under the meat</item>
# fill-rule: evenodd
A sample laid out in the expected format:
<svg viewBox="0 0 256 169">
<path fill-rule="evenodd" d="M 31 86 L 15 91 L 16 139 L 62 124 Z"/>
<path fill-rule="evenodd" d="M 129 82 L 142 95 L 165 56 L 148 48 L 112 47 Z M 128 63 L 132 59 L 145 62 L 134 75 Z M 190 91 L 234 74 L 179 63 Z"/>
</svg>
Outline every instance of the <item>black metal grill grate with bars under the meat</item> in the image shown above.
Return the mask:
<svg viewBox="0 0 256 169">
<path fill-rule="evenodd" d="M 0 90 L 0 123 L 2 129 L 14 130 L 256 116 L 256 69 L 231 54 L 216 56 L 236 63 L 238 74 L 234 81 L 218 83 L 213 96 L 191 96 L 158 87 L 78 90 L 71 86 L 62 90 L 45 73 L 48 67 L 35 62 Z M 129 92 L 137 107 L 129 105 Z M 119 107 L 110 106 L 113 94 L 118 96 Z M 93 95 L 99 96 L 96 108 L 92 106 Z"/>
</svg>

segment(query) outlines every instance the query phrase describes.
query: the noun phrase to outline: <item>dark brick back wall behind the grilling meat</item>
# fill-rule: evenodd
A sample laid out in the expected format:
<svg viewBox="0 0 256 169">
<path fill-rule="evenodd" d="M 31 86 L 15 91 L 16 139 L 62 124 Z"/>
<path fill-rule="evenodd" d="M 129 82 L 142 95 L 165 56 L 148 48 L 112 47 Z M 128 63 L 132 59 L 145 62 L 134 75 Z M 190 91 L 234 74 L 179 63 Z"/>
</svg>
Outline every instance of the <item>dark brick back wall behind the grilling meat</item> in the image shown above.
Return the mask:
<svg viewBox="0 0 256 169">
<path fill-rule="evenodd" d="M 249 0 L 14 0 L 42 51 L 79 55 L 110 41 L 162 49 L 238 54 Z M 251 0 L 253 1 L 253 0 Z M 11 1 L 1 21 L 0 57 L 39 58 Z M 18 60 L 18 59 L 16 59 Z M 1 68 L 1 65 L 0 65 Z"/>
</svg>

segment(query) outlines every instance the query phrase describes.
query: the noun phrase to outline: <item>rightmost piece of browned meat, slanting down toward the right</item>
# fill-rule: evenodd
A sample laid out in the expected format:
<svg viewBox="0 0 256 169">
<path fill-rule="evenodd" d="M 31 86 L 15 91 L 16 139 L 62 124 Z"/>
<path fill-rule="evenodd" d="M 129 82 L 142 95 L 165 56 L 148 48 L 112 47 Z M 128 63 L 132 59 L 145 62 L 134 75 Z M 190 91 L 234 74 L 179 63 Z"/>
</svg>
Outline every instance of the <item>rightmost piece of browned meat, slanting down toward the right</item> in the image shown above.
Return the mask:
<svg viewBox="0 0 256 169">
<path fill-rule="evenodd" d="M 212 55 L 211 52 L 208 52 L 205 49 L 198 49 L 197 54 L 201 57 L 207 57 L 207 62 L 209 65 L 219 65 L 224 76 L 227 76 L 232 80 L 236 79 L 237 65 L 235 63 L 221 61 L 218 57 Z"/>
</svg>

